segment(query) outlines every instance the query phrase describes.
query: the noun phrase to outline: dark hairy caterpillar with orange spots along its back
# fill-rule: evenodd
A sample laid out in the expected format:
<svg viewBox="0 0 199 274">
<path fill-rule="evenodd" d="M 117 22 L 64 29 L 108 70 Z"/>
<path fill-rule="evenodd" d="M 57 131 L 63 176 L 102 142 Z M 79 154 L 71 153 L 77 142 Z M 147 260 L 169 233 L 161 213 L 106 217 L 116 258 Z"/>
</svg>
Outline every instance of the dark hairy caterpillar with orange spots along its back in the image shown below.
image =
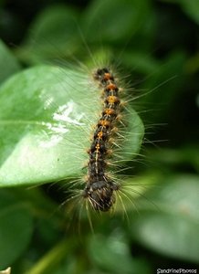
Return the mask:
<svg viewBox="0 0 199 274">
<path fill-rule="evenodd" d="M 103 88 L 104 106 L 89 149 L 89 176 L 84 196 L 96 210 L 107 211 L 114 203 L 113 192 L 119 186 L 106 175 L 106 156 L 112 132 L 117 132 L 115 121 L 120 113 L 119 88 L 108 68 L 99 68 L 94 79 Z"/>
</svg>

